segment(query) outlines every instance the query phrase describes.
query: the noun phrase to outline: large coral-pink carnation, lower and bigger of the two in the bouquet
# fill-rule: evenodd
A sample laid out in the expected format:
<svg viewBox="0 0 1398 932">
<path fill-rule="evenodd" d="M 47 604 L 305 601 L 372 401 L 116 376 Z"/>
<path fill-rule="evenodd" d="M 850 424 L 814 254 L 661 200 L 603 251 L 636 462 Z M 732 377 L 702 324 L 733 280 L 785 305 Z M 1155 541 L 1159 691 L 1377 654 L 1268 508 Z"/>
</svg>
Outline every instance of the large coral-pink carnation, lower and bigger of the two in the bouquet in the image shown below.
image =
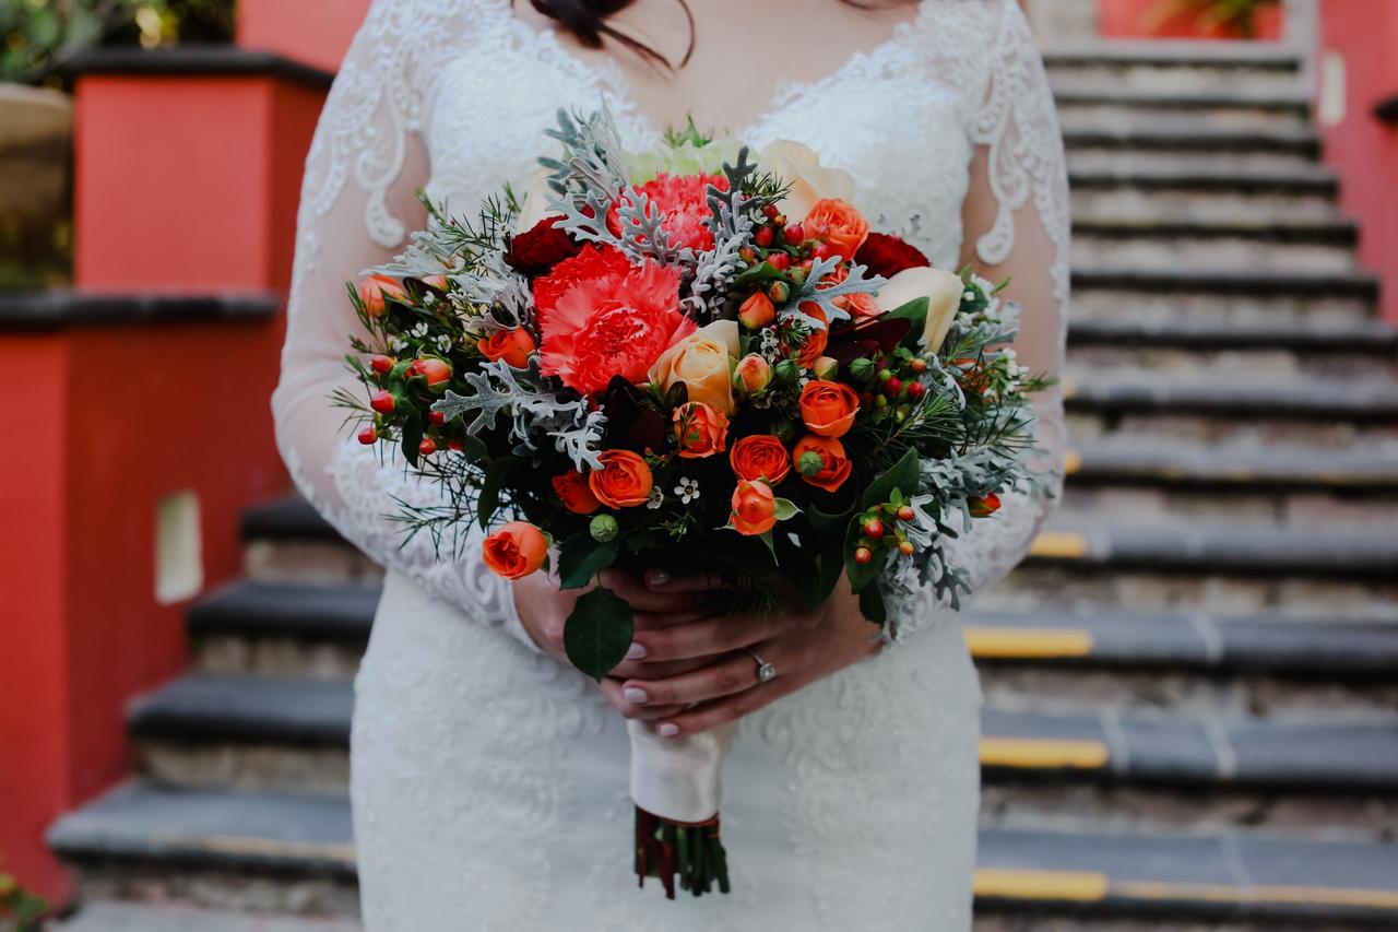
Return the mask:
<svg viewBox="0 0 1398 932">
<path fill-rule="evenodd" d="M 695 323 L 679 312 L 679 270 L 646 262 L 626 274 L 576 281 L 541 322 L 542 372 L 597 395 L 621 375 L 640 383 Z"/>
</svg>

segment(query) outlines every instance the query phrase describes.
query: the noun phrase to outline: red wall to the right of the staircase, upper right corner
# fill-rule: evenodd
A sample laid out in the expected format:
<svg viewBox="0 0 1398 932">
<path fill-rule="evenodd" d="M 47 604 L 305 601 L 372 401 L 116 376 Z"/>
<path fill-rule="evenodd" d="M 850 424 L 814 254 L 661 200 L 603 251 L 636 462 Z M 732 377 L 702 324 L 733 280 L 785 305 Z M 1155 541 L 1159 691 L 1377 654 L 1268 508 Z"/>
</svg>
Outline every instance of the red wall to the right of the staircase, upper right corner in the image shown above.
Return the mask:
<svg viewBox="0 0 1398 932">
<path fill-rule="evenodd" d="M 1345 119 L 1321 127 L 1325 161 L 1342 179 L 1345 213 L 1362 224 L 1360 260 L 1384 277 L 1383 315 L 1398 323 L 1398 127 L 1373 115 L 1398 94 L 1398 0 L 1325 0 L 1323 11 L 1321 55 L 1342 56 L 1346 74 Z"/>
</svg>

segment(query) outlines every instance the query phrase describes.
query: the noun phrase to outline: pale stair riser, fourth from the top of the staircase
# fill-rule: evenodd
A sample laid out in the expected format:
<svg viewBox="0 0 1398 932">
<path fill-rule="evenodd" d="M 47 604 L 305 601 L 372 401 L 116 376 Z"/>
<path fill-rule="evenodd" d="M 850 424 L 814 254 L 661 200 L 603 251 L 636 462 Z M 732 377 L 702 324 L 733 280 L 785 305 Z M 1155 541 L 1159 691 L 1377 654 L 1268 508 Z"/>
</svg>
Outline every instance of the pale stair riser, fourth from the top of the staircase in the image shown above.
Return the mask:
<svg viewBox="0 0 1398 932">
<path fill-rule="evenodd" d="M 1127 185 L 1078 186 L 1072 190 L 1074 218 L 1137 223 L 1306 223 L 1334 220 L 1335 200 L 1324 192 L 1191 190 Z"/>
</svg>

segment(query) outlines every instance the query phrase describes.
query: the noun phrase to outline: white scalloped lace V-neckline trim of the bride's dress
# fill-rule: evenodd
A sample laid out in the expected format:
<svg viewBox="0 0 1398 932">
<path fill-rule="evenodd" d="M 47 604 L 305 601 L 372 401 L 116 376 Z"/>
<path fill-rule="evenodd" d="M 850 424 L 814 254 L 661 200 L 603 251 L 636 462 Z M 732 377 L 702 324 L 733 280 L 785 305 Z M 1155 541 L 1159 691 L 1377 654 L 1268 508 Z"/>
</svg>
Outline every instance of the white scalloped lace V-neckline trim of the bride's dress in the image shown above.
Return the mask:
<svg viewBox="0 0 1398 932">
<path fill-rule="evenodd" d="M 811 94 L 816 94 L 833 84 L 839 84 L 851 74 L 877 70 L 881 60 L 889 59 L 906 42 L 909 42 L 909 39 L 923 31 L 932 6 L 932 0 L 917 0 L 917 10 L 913 17 L 899 22 L 893 28 L 893 34 L 889 38 L 870 49 L 857 49 L 851 52 L 843 64 L 823 77 L 809 80 L 780 78 L 772 92 L 772 98 L 768 101 L 768 105 L 752 119 L 752 122 L 741 130 L 734 132 L 734 137 L 740 140 L 754 139 L 766 123 L 777 116 L 781 109 L 800 102 Z M 663 133 L 660 122 L 636 101 L 636 97 L 632 92 L 630 80 L 626 77 L 626 73 L 622 71 L 621 64 L 618 64 L 615 59 L 610 57 L 601 64 L 587 62 L 569 49 L 568 45 L 558 36 L 555 29 L 535 29 L 516 17 L 510 8 L 510 0 L 502 0 L 502 4 L 498 8 L 507 18 L 510 28 L 516 31 L 521 42 L 535 43 L 541 50 L 551 53 L 569 74 L 587 81 L 610 98 L 612 105 L 622 112 L 625 120 L 636 130 L 640 137 L 637 139 L 637 143 L 651 146 L 661 139 Z"/>
</svg>

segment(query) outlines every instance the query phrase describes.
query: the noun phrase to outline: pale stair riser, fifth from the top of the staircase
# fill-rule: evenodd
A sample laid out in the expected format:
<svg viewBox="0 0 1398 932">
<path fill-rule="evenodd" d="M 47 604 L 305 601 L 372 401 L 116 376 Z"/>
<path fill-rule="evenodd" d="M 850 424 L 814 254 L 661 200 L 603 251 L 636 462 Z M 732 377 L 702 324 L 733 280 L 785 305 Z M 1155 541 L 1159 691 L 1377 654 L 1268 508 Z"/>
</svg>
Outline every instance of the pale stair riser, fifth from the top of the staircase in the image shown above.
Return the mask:
<svg viewBox="0 0 1398 932">
<path fill-rule="evenodd" d="M 1353 249 L 1320 243 L 1276 243 L 1233 236 L 1173 238 L 1083 235 L 1072 239 L 1075 263 L 1106 267 L 1250 271 L 1352 271 Z"/>
</svg>

